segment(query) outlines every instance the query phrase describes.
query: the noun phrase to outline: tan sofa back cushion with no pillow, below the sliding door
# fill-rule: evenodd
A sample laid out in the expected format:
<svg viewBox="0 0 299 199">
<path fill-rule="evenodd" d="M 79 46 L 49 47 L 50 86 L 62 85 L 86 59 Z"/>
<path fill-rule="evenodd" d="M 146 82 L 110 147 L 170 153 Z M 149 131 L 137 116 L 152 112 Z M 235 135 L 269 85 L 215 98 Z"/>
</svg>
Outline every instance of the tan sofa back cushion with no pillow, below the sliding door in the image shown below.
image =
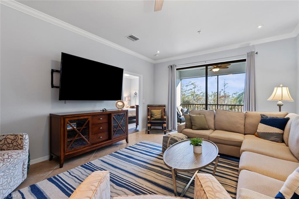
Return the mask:
<svg viewBox="0 0 299 199">
<path fill-rule="evenodd" d="M 226 110 L 216 110 L 215 129 L 244 134 L 245 114 Z"/>
</svg>

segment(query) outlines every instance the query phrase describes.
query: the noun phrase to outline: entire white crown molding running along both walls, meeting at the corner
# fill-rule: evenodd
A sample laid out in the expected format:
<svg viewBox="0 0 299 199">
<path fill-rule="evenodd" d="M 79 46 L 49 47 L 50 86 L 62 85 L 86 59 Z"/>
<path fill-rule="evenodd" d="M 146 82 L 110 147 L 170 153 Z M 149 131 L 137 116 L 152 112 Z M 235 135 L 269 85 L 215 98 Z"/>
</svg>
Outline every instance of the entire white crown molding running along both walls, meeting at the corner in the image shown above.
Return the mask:
<svg viewBox="0 0 299 199">
<path fill-rule="evenodd" d="M 105 44 L 107 46 L 113 47 L 117 50 L 123 51 L 125 53 L 128 53 L 130 55 L 133 55 L 135 57 L 141 58 L 145 61 L 149 61 L 153 64 L 157 64 L 157 63 L 161 63 L 161 62 L 165 62 L 165 61 L 173 61 L 176 59 L 182 59 L 182 58 L 188 58 L 188 57 L 194 57 L 194 56 L 198 56 L 198 55 L 204 55 L 204 54 L 209 54 L 209 53 L 216 53 L 216 52 L 220 52 L 223 50 L 231 50 L 231 49 L 235 49 L 235 48 L 239 48 L 239 47 L 246 47 L 246 46 L 251 46 L 251 45 L 256 45 L 256 44 L 262 44 L 262 43 L 266 43 L 266 42 L 271 42 L 271 41 L 277 41 L 277 40 L 281 40 L 281 39 L 287 39 L 287 38 L 292 38 L 292 37 L 296 37 L 299 34 L 299 24 L 295 27 L 294 31 L 292 33 L 288 33 L 288 34 L 284 34 L 284 35 L 280 35 L 280 36 L 274 36 L 274 37 L 270 37 L 270 38 L 265 38 L 265 39 L 260 39 L 260 40 L 254 40 L 254 41 L 249 41 L 249 42 L 245 42 L 245 43 L 239 43 L 239 44 L 234 44 L 231 46 L 225 46 L 225 47 L 220 47 L 220 48 L 214 48 L 214 49 L 210 49 L 210 50 L 204 50 L 204 51 L 199 51 L 196 53 L 189 53 L 189 54 L 185 54 L 185 55 L 178 55 L 178 56 L 173 56 L 173 57 L 168 57 L 168 58 L 163 58 L 163 59 L 158 59 L 158 60 L 153 60 L 151 58 L 148 58 L 144 55 L 141 55 L 139 53 L 136 53 L 132 50 L 129 50 L 125 47 L 122 47 L 118 44 L 115 44 L 111 41 L 108 41 L 104 38 L 101 38 L 99 36 L 96 36 L 92 33 L 89 33 L 85 30 L 82 30 L 76 26 L 73 26 L 71 24 L 68 24 L 64 21 L 61 21 L 55 17 L 52 17 L 50 15 L 47 15 L 45 13 L 42 13 L 38 10 L 35 10 L 29 6 L 26 6 L 22 3 L 19 3 L 15 0 L 0 0 L 0 4 L 3 4 L 5 6 L 11 7 L 15 10 L 19 10 L 23 13 L 26 13 L 28 15 L 34 16 L 36 18 L 39 18 L 41 20 L 47 21 L 51 24 L 57 25 L 59 27 L 62 27 L 66 30 L 72 31 L 74 33 L 77 33 L 81 36 L 85 36 L 87 38 L 90 38 L 94 41 L 100 42 L 102 44 Z"/>
</svg>

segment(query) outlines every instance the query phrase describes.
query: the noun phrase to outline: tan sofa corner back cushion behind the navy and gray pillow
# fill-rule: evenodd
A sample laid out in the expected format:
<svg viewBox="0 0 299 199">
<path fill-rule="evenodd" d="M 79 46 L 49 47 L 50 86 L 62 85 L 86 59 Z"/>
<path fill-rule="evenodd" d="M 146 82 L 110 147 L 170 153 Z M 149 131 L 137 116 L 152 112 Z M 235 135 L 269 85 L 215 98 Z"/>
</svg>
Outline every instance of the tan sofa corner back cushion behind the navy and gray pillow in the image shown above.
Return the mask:
<svg viewBox="0 0 299 199">
<path fill-rule="evenodd" d="M 275 117 L 285 117 L 287 112 L 245 112 L 245 134 L 252 134 L 257 132 L 257 126 L 261 120 L 261 114 Z"/>
</svg>

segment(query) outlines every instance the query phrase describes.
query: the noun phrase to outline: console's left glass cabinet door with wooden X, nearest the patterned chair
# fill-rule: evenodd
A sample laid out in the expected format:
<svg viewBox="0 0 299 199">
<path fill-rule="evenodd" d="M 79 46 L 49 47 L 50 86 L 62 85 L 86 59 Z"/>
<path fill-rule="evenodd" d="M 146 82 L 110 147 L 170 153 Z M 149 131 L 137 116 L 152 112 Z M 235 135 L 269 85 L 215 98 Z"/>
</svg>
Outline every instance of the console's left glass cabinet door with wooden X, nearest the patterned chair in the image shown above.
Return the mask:
<svg viewBox="0 0 299 199">
<path fill-rule="evenodd" d="M 91 116 L 65 118 L 65 153 L 91 145 Z"/>
</svg>

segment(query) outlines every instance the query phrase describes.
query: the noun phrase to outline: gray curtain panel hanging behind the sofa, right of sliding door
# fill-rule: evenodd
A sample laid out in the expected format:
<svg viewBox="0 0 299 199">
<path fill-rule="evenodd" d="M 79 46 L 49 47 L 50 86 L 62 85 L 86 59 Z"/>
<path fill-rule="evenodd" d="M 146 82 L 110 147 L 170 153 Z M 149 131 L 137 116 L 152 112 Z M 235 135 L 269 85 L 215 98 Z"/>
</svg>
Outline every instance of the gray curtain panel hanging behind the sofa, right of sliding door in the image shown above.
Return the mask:
<svg viewBox="0 0 299 199">
<path fill-rule="evenodd" d="M 244 111 L 256 110 L 254 53 L 248 52 L 246 57 Z"/>
</svg>

